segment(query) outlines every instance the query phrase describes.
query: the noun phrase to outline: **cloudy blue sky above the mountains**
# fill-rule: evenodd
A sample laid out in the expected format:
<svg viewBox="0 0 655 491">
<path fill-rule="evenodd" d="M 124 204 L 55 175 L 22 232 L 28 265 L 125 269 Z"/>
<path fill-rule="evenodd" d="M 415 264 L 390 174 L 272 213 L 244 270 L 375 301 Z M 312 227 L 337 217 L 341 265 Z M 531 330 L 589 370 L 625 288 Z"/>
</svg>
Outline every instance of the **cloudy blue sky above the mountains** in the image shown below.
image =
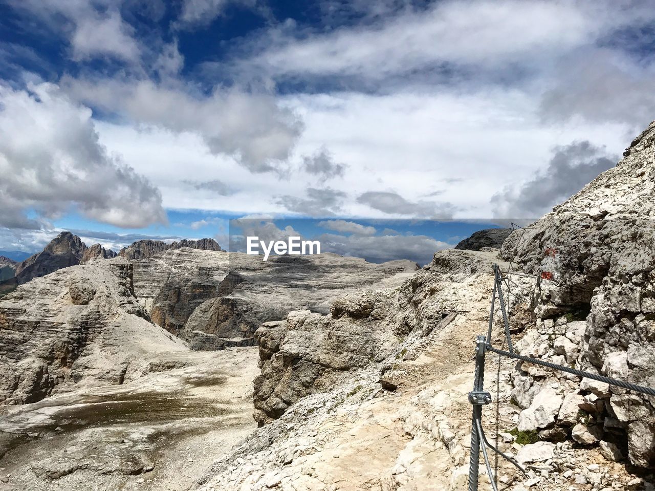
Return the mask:
<svg viewBox="0 0 655 491">
<path fill-rule="evenodd" d="M 654 48 L 648 1 L 0 0 L 0 249 L 538 217 L 655 119 Z"/>
</svg>

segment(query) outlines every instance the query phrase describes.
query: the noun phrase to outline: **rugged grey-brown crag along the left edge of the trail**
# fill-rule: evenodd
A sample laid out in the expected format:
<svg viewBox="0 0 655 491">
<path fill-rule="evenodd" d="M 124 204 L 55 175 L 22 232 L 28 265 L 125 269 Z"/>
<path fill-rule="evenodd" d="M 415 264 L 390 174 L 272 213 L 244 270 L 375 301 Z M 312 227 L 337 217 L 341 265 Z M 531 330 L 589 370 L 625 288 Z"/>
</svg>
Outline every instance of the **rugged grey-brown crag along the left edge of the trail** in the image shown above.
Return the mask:
<svg viewBox="0 0 655 491">
<path fill-rule="evenodd" d="M 255 333 L 261 366 L 254 383 L 259 425 L 280 418 L 303 397 L 339 385 L 353 370 L 383 361 L 410 332 L 424 337 L 447 325 L 458 305 L 467 303 L 464 298 L 479 296 L 479 290 L 473 293 L 467 286 L 478 275 L 489 275 L 494 258 L 492 252 L 438 252 L 397 288 L 337 298 L 329 315 L 292 311 L 284 321 L 263 324 Z M 383 387 L 397 387 L 393 370 L 384 370 L 381 380 Z"/>
</svg>

